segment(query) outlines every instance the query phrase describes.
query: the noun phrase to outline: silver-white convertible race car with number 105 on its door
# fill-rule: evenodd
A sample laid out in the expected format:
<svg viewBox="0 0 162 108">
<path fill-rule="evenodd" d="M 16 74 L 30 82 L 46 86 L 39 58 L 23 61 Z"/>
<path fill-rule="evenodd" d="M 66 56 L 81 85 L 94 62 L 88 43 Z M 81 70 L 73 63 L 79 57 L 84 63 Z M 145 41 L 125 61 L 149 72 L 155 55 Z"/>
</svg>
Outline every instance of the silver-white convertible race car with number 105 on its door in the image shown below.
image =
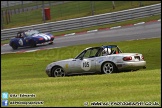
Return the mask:
<svg viewBox="0 0 162 108">
<path fill-rule="evenodd" d="M 123 70 L 145 69 L 146 61 L 140 53 L 122 53 L 117 45 L 89 47 L 71 59 L 52 62 L 46 67 L 49 77 L 70 74 L 110 74 Z"/>
</svg>

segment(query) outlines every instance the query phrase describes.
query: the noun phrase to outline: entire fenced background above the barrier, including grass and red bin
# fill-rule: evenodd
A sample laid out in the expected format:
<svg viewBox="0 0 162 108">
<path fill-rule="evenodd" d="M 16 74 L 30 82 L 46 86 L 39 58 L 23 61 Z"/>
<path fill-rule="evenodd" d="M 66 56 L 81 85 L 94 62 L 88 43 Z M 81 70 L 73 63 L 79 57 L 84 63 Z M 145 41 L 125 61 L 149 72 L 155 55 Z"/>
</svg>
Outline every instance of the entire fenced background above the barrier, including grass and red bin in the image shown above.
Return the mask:
<svg viewBox="0 0 162 108">
<path fill-rule="evenodd" d="M 1 30 L 157 3 L 161 1 L 1 1 Z"/>
</svg>

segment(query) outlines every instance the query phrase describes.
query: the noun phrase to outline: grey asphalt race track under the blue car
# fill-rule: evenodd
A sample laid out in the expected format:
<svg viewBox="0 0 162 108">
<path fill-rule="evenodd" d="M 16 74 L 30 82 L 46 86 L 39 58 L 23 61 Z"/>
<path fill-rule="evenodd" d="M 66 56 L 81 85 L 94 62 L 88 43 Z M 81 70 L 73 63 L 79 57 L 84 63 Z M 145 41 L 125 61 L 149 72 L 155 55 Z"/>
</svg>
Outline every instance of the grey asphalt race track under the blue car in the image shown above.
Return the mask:
<svg viewBox="0 0 162 108">
<path fill-rule="evenodd" d="M 121 28 L 95 31 L 80 35 L 60 36 L 55 38 L 52 45 L 38 45 L 35 48 L 18 48 L 13 50 L 8 44 L 1 46 L 1 54 L 10 52 L 32 51 L 37 49 L 58 48 L 72 45 L 81 45 L 101 42 L 117 42 L 125 40 L 137 40 L 145 38 L 161 38 L 161 21 L 145 23 L 134 26 L 123 26 Z"/>
</svg>

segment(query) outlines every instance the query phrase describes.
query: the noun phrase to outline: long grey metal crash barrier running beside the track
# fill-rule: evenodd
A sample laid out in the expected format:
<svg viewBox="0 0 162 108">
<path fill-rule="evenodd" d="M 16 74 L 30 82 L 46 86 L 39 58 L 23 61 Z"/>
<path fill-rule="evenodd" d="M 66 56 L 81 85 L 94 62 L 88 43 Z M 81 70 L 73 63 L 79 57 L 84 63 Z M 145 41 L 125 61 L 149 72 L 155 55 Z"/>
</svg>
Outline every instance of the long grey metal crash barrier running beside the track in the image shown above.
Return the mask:
<svg viewBox="0 0 162 108">
<path fill-rule="evenodd" d="M 161 14 L 161 3 L 128 9 L 124 11 L 75 18 L 70 20 L 62 20 L 50 23 L 43 23 L 31 26 L 24 26 L 18 28 L 4 29 L 1 30 L 1 40 L 6 40 L 16 36 L 16 33 L 20 30 L 36 29 L 41 32 L 60 32 L 66 30 L 74 30 L 85 27 L 111 24 L 136 18 L 143 18 L 147 16 L 160 15 Z"/>
</svg>

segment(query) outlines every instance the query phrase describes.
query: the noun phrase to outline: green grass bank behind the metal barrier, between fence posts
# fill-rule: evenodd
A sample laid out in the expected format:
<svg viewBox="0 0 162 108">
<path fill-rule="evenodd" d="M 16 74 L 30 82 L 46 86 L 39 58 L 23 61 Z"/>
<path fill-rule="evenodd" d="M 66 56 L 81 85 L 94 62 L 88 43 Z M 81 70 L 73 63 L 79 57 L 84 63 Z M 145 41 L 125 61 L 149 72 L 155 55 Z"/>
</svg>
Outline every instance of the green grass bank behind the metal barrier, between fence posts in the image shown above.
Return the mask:
<svg viewBox="0 0 162 108">
<path fill-rule="evenodd" d="M 160 2 L 142 1 L 142 6 Z M 111 1 L 95 1 L 94 15 L 136 8 L 139 7 L 139 1 L 115 1 L 115 6 L 116 8 L 112 9 Z M 73 1 L 51 6 L 50 14 L 51 20 L 47 20 L 46 22 L 90 16 L 92 15 L 91 1 Z M 2 23 L 4 29 L 43 23 L 42 9 L 11 15 L 9 24 L 7 24 L 5 15 L 2 18 L 4 19 Z"/>
</svg>

